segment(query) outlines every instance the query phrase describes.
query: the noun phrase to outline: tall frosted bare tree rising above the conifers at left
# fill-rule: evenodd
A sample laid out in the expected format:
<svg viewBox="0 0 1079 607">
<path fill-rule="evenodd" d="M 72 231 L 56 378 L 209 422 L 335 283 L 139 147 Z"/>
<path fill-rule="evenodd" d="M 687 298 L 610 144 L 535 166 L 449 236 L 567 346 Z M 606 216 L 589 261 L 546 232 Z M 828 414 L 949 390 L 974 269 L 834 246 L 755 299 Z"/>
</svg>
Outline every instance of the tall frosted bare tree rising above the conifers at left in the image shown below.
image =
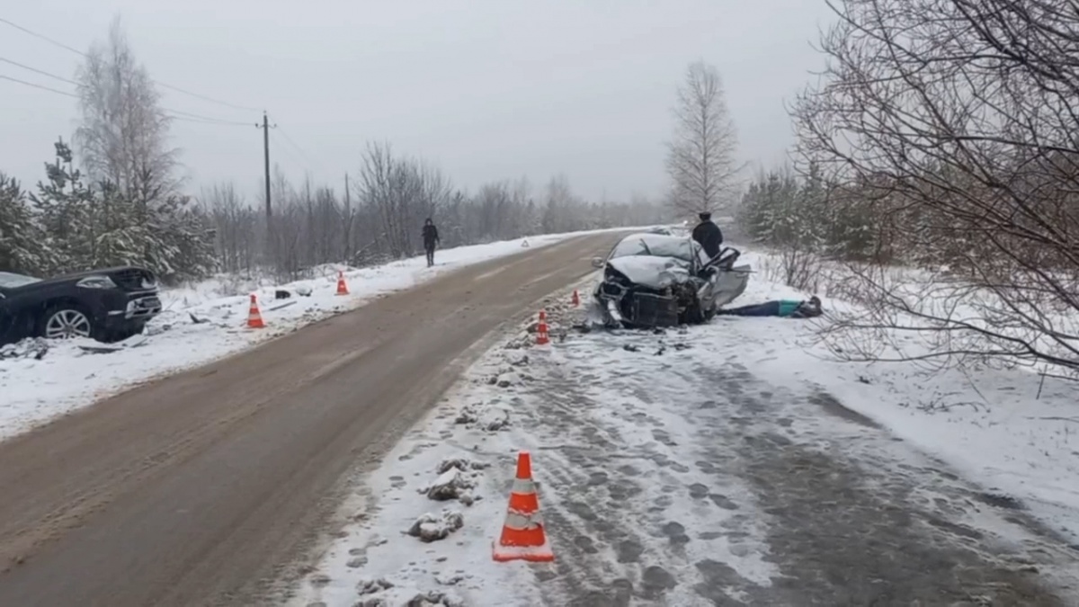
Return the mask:
<svg viewBox="0 0 1079 607">
<path fill-rule="evenodd" d="M 88 177 L 115 184 L 144 210 L 175 193 L 178 151 L 168 145 L 170 119 L 119 17 L 108 40 L 91 46 L 77 79 L 82 119 L 76 143 Z"/>
</svg>

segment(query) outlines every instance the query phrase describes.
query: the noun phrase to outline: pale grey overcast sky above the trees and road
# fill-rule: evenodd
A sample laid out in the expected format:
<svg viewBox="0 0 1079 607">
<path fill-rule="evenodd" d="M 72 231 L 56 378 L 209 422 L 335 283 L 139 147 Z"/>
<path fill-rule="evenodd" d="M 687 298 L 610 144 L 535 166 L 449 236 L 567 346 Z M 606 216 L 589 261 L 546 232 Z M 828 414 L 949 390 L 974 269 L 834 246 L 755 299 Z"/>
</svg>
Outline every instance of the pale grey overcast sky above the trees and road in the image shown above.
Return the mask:
<svg viewBox="0 0 1079 607">
<path fill-rule="evenodd" d="M 685 67 L 724 78 L 746 161 L 782 161 L 783 109 L 821 67 L 823 0 L 33 0 L 0 18 L 85 50 L 120 14 L 152 78 L 267 109 L 273 161 L 340 186 L 369 139 L 464 188 L 565 174 L 591 199 L 663 191 L 664 141 Z M 0 23 L 0 58 L 72 78 L 80 57 Z M 72 86 L 0 62 L 0 75 Z M 254 194 L 259 111 L 162 90 L 167 108 L 250 125 L 177 122 L 194 187 Z M 76 100 L 0 80 L 0 171 L 30 185 Z M 291 141 L 291 143 L 290 143 Z M 295 144 L 295 145 L 293 145 Z"/>
</svg>

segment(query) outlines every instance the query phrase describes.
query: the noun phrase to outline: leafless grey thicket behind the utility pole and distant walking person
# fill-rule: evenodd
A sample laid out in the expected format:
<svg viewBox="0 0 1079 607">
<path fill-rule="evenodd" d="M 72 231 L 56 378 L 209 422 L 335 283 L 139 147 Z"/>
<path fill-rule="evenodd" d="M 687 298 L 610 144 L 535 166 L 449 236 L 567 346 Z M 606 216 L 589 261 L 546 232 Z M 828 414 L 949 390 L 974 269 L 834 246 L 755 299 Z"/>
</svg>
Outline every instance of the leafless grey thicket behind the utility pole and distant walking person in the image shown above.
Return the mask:
<svg viewBox="0 0 1079 607">
<path fill-rule="evenodd" d="M 387 144 L 367 147 L 357 175 L 349 197 L 339 198 L 310 181 L 296 188 L 276 171 L 272 187 L 279 212 L 272 238 L 260 200 L 245 201 L 228 184 L 204 190 L 200 202 L 215 224 L 221 268 L 247 279 L 292 280 L 317 275 L 325 264 L 383 262 L 418 251 L 425 217 L 438 222 L 446 246 L 666 218 L 661 205 L 640 197 L 628 204 L 590 204 L 565 177 L 551 179 L 538 202 L 524 178 L 486 184 L 469 195 L 453 190 L 433 165 L 398 156 Z"/>
</svg>

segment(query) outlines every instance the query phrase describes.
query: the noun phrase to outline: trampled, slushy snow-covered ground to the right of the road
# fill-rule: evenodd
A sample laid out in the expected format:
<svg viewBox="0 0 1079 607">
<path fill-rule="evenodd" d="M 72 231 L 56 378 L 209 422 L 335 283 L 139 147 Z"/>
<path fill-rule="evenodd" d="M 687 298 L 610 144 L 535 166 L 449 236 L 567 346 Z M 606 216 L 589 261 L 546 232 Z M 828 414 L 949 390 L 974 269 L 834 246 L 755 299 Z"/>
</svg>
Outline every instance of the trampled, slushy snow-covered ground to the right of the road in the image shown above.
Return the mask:
<svg viewBox="0 0 1079 607">
<path fill-rule="evenodd" d="M 759 273 L 739 304 L 791 297 Z M 1079 604 L 1067 383 L 1036 400 L 1022 370 L 835 362 L 789 319 L 530 342 L 489 352 L 358 483 L 295 605 Z M 519 449 L 552 565 L 491 558 Z M 446 537 L 409 535 L 421 521 Z"/>
</svg>

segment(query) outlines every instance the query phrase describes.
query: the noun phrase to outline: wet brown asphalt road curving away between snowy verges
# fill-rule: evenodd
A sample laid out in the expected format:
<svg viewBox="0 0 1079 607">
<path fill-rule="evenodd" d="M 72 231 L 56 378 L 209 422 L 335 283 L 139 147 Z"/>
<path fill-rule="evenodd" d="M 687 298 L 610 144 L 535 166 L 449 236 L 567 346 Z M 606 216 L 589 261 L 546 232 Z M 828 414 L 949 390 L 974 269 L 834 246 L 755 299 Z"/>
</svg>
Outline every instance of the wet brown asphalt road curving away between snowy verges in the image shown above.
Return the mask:
<svg viewBox="0 0 1079 607">
<path fill-rule="evenodd" d="M 269 603 L 342 480 L 617 239 L 472 266 L 0 444 L 0 605 Z"/>
</svg>

